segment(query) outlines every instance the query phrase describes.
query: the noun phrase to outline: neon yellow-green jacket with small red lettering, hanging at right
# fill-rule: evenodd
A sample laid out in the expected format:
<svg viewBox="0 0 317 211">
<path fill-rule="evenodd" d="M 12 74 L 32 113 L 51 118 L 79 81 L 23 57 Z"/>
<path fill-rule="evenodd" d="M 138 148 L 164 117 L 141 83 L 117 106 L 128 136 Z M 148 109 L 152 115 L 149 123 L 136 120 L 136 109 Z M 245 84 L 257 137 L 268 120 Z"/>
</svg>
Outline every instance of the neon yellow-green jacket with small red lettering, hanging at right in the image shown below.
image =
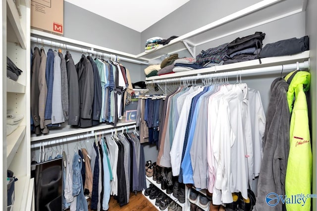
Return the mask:
<svg viewBox="0 0 317 211">
<path fill-rule="evenodd" d="M 288 80 L 292 73 L 288 74 L 285 80 Z M 287 198 L 292 198 L 292 195 L 298 196 L 298 194 L 304 194 L 306 197 L 307 194 L 311 193 L 313 160 L 308 108 L 304 92 L 309 89 L 310 80 L 311 74 L 309 72 L 297 72 L 289 83 L 287 92 L 291 112 L 290 150 L 285 178 L 285 195 Z M 293 104 L 294 95 L 295 101 Z M 306 201 L 304 202 L 304 200 Z M 286 203 L 286 210 L 310 211 L 311 199 L 305 198 L 304 200 L 297 201 L 298 204 Z"/>
</svg>

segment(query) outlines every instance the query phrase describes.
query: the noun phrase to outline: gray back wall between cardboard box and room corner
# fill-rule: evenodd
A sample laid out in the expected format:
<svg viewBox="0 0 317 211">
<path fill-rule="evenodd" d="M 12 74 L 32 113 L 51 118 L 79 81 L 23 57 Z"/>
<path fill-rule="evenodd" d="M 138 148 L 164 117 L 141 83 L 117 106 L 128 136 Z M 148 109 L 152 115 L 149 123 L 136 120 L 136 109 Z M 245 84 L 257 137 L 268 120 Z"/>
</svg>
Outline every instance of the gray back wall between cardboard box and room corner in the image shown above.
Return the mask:
<svg viewBox="0 0 317 211">
<path fill-rule="evenodd" d="M 67 1 L 64 1 L 64 37 L 132 54 L 140 52 L 139 32 Z"/>
</svg>

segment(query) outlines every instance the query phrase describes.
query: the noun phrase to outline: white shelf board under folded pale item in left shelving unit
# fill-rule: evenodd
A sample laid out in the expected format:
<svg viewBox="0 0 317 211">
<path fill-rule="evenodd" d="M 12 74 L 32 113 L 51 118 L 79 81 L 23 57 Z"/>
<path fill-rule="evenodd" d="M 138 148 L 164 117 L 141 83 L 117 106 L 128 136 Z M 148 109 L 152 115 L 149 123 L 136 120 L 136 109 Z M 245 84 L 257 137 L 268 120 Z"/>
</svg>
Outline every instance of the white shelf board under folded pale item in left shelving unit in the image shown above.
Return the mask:
<svg viewBox="0 0 317 211">
<path fill-rule="evenodd" d="M 17 152 L 25 135 L 26 126 L 19 126 L 10 135 L 6 136 L 6 161 L 7 166 L 10 166 L 15 153 Z"/>
</svg>

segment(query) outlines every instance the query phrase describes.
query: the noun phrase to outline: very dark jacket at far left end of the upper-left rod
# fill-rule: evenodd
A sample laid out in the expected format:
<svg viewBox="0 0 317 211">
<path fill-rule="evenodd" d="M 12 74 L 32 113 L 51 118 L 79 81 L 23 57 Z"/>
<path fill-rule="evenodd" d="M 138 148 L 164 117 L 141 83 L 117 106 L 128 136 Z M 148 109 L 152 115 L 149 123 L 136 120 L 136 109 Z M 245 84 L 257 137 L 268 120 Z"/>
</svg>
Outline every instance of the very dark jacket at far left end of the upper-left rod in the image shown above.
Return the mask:
<svg viewBox="0 0 317 211">
<path fill-rule="evenodd" d="M 32 67 L 31 67 L 31 115 L 33 124 L 37 128 L 37 134 L 41 134 L 40 131 L 40 116 L 39 116 L 39 70 L 41 65 L 41 51 L 38 47 L 34 48 L 32 56 Z"/>
</svg>

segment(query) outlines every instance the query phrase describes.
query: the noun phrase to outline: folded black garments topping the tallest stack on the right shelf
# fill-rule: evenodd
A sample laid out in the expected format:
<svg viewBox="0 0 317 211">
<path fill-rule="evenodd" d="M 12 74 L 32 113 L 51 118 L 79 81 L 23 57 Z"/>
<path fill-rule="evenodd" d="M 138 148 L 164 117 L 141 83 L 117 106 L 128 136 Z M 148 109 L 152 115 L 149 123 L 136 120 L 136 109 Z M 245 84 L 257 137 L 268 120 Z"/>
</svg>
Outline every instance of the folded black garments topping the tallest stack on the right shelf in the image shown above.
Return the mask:
<svg viewBox="0 0 317 211">
<path fill-rule="evenodd" d="M 234 41 L 228 44 L 227 54 L 230 55 L 234 52 L 250 48 L 256 47 L 257 49 L 262 48 L 262 41 L 265 38 L 265 33 L 256 32 L 254 35 L 249 35 L 243 38 L 237 38 Z"/>
</svg>

